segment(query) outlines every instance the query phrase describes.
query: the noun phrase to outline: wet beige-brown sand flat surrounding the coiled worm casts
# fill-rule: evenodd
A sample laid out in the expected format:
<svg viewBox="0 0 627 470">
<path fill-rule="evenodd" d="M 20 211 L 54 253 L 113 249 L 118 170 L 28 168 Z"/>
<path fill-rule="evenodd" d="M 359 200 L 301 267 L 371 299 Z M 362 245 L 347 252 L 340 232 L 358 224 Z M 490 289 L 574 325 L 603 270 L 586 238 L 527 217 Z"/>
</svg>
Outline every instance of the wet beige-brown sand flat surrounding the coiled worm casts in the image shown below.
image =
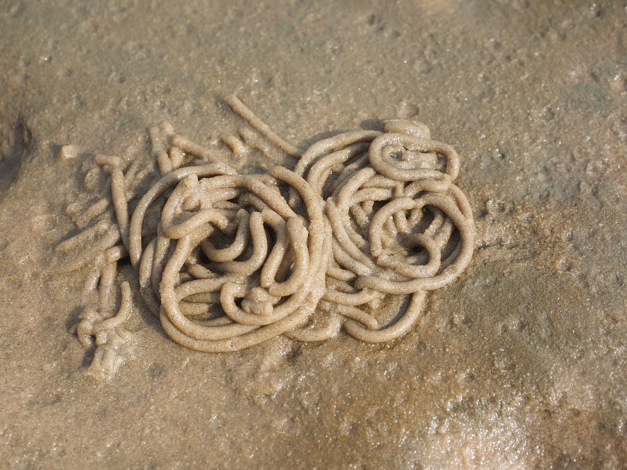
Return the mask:
<svg viewBox="0 0 627 470">
<path fill-rule="evenodd" d="M 0 1 L 0 467 L 627 468 L 626 26 L 610 0 Z M 47 273 L 65 207 L 150 125 L 236 132 L 232 92 L 302 146 L 418 112 L 475 258 L 384 345 L 193 352 L 136 295 L 132 356 L 90 378 L 85 272 Z"/>
</svg>

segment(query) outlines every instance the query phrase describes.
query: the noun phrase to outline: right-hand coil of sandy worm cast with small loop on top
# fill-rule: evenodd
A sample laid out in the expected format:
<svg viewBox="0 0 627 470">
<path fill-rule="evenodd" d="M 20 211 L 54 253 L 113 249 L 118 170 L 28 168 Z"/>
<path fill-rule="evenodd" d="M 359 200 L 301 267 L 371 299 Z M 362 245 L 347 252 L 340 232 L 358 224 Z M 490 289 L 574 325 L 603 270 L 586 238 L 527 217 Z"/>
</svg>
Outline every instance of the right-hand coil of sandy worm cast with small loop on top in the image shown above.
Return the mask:
<svg viewBox="0 0 627 470">
<path fill-rule="evenodd" d="M 419 123 L 389 120 L 384 130 L 317 142 L 296 167 L 325 200 L 332 227 L 320 306 L 328 337 L 340 326 L 366 342 L 402 335 L 418 319 L 426 291 L 450 283 L 472 256 L 472 211 L 453 184 L 455 150 L 431 140 Z M 398 307 L 381 315 L 382 298 Z"/>
</svg>

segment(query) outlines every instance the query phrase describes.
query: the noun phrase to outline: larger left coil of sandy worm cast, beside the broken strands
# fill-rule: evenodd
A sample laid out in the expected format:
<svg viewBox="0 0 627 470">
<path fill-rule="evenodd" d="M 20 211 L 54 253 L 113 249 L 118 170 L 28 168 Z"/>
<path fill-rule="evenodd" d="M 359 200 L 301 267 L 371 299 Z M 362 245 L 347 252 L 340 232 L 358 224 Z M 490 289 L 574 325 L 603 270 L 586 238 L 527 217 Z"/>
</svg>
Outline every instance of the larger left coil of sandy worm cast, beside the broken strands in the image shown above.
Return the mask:
<svg viewBox="0 0 627 470">
<path fill-rule="evenodd" d="M 283 198 L 287 187 L 300 197 L 302 213 Z M 302 323 L 324 294 L 329 241 L 320 203 L 282 167 L 268 177 L 181 179 L 139 268 L 142 292 L 166 332 L 186 347 L 218 352 Z M 134 222 L 132 239 L 140 234 Z"/>
</svg>

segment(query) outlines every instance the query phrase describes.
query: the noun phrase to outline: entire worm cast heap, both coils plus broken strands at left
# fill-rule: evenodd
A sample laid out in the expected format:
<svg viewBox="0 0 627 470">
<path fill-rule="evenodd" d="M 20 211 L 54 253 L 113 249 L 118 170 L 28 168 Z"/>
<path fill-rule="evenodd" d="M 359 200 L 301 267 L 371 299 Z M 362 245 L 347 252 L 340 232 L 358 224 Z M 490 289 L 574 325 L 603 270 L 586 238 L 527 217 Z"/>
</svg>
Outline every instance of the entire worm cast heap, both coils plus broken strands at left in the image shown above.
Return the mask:
<svg viewBox="0 0 627 470">
<path fill-rule="evenodd" d="M 294 170 L 238 174 L 164 123 L 150 129 L 154 170 L 141 177 L 143 194 L 133 162 L 96 159 L 109 194 L 76 216 L 88 222 L 61 248 L 105 234 L 104 251 L 117 249 L 116 263 L 128 254 L 166 333 L 195 350 L 235 351 L 277 335 L 321 341 L 342 328 L 372 343 L 407 332 L 426 292 L 456 279 L 472 257 L 474 222 L 453 184 L 455 150 L 424 124 L 394 119 L 384 132 L 342 133 L 303 151 L 234 95 L 226 102 L 297 157 Z M 100 266 L 107 291 L 107 259 L 90 250 L 70 267 Z M 87 312 L 82 341 L 98 338 Z"/>
</svg>

